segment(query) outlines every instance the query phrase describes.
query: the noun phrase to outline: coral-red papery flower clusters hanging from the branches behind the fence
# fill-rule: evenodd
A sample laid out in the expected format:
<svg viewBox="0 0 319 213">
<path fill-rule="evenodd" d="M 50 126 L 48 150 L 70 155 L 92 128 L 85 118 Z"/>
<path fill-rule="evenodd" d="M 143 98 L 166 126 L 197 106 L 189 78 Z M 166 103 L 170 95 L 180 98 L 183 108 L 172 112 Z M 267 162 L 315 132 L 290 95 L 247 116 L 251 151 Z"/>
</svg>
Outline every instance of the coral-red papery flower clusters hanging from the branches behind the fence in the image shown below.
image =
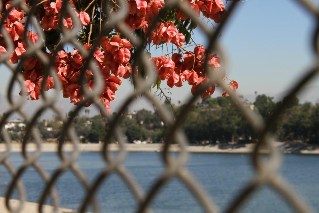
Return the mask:
<svg viewBox="0 0 319 213">
<path fill-rule="evenodd" d="M 185 0 L 187 1 L 187 0 Z M 225 5 L 221 0 L 188 0 L 190 7 L 199 16 L 202 12 L 203 16 L 213 19 L 215 22 L 219 22 L 223 13 L 225 13 Z M 14 50 L 10 53 L 9 62 L 11 64 L 17 64 L 19 60 L 24 57 L 27 50 L 25 41 L 29 43 L 37 43 L 39 37 L 31 29 L 25 26 L 25 11 L 19 7 L 11 7 L 12 1 L 3 1 L 3 8 L 1 11 L 1 19 L 4 19 L 4 28 L 9 34 Z M 99 47 L 94 48 L 91 46 L 91 42 L 99 35 L 93 35 L 92 26 L 98 23 L 99 16 L 94 15 L 94 12 L 102 13 L 99 8 L 99 3 L 95 3 L 91 6 L 81 5 L 81 2 L 77 0 L 68 0 L 68 3 L 73 8 L 73 12 L 80 20 L 82 25 L 82 31 L 79 33 L 79 40 L 83 42 L 83 47 L 87 51 L 93 51 L 94 63 L 100 70 L 100 73 L 104 80 L 104 89 L 99 94 L 99 100 L 103 103 L 108 110 L 110 101 L 115 99 L 115 92 L 122 84 L 123 79 L 130 78 L 132 75 L 132 64 L 134 63 L 131 58 L 131 54 L 134 51 L 133 45 L 129 40 L 118 32 L 116 29 L 108 36 L 103 36 Z M 23 4 L 27 4 L 23 2 Z M 28 3 L 29 4 L 29 3 Z M 164 0 L 130 0 L 127 2 L 128 11 L 125 23 L 132 31 L 142 32 L 147 34 L 147 31 L 152 27 L 152 21 L 158 16 L 159 11 L 165 6 Z M 38 5 L 36 17 L 41 23 L 44 33 L 54 32 L 60 36 L 61 27 L 71 29 L 73 26 L 73 20 L 70 14 L 62 14 L 61 8 L 63 5 L 62 0 L 50 0 L 42 1 Z M 96 7 L 95 7 L 96 6 Z M 116 11 L 117 4 L 111 7 Z M 7 17 L 2 17 L 5 11 L 10 10 Z M 86 12 L 87 11 L 87 12 Z M 90 15 L 89 15 L 90 13 Z M 92 15 L 91 15 L 92 14 Z M 172 9 L 171 14 L 174 15 L 174 20 L 186 20 L 188 19 L 179 9 Z M 101 15 L 101 14 L 100 14 Z M 91 20 L 93 17 L 94 20 Z M 100 16 L 101 17 L 101 16 Z M 60 21 L 62 19 L 62 25 Z M 172 19 L 160 19 L 155 23 L 156 26 L 152 27 L 152 31 L 149 33 L 147 42 L 154 45 L 160 45 L 163 43 L 172 43 L 176 46 L 179 53 L 172 53 L 166 56 L 152 57 L 151 62 L 156 67 L 156 75 L 159 80 L 166 80 L 168 87 L 182 87 L 182 81 L 187 81 L 192 86 L 191 92 L 195 94 L 198 88 L 209 81 L 209 76 L 204 71 L 203 65 L 205 60 L 205 54 L 207 49 L 200 45 L 196 45 L 193 51 L 188 51 L 182 48 L 185 43 L 185 35 L 179 32 L 178 24 Z M 89 30 L 90 29 L 90 30 Z M 25 32 L 26 30 L 26 37 Z M 86 31 L 85 31 L 86 30 Z M 88 32 L 89 33 L 85 33 Z M 81 37 L 82 36 L 82 37 Z M 91 37 L 91 40 L 90 40 Z M 94 37 L 94 39 L 93 39 Z M 51 39 L 51 38 L 49 38 Z M 81 40 L 82 39 L 82 40 Z M 45 55 L 50 58 L 52 56 L 52 50 L 49 51 L 49 45 L 46 43 L 48 51 Z M 50 44 L 51 46 L 56 45 Z M 44 48 L 45 49 L 45 48 Z M 0 34 L 0 54 L 6 54 L 7 48 L 4 41 L 4 37 Z M 63 97 L 70 98 L 70 101 L 77 105 L 81 101 L 85 100 L 80 85 L 80 76 L 82 72 L 85 72 L 85 84 L 83 86 L 92 90 L 94 87 L 94 75 L 91 70 L 84 70 L 86 60 L 80 54 L 78 49 L 74 49 L 71 52 L 60 50 L 55 57 L 55 71 L 59 83 L 62 84 Z M 216 54 L 208 54 L 207 63 L 210 65 L 210 71 L 215 72 L 220 67 L 220 58 Z M 22 75 L 25 80 L 26 92 L 30 95 L 32 100 L 40 99 L 41 89 L 47 91 L 55 88 L 54 78 L 52 76 L 45 77 L 46 68 L 41 61 L 34 55 L 25 57 L 23 61 Z M 134 75 L 138 75 L 137 69 Z M 43 83 L 43 81 L 45 81 Z M 44 85 L 45 88 L 41 88 Z M 238 88 L 236 81 L 230 81 L 227 85 L 234 92 Z M 201 97 L 205 98 L 208 95 L 213 94 L 215 85 L 210 85 L 201 93 Z M 223 92 L 223 96 L 228 96 L 226 91 Z M 91 103 L 86 102 L 85 106 L 89 106 Z"/>
</svg>

